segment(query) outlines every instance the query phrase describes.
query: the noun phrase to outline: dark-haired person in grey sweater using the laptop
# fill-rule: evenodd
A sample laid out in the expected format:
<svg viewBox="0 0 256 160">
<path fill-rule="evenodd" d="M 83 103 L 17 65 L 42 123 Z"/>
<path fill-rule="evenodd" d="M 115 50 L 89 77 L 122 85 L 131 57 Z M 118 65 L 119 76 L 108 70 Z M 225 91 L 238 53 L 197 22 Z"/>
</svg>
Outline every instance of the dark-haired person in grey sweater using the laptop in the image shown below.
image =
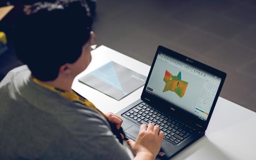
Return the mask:
<svg viewBox="0 0 256 160">
<path fill-rule="evenodd" d="M 71 89 L 91 62 L 91 26 L 83 0 L 25 7 L 15 26 L 15 50 L 26 65 L 0 82 L 1 160 L 130 159 L 118 141 L 122 119 Z M 158 126 L 142 125 L 137 141 L 127 141 L 134 159 L 156 158 L 163 138 L 158 132 Z"/>
</svg>

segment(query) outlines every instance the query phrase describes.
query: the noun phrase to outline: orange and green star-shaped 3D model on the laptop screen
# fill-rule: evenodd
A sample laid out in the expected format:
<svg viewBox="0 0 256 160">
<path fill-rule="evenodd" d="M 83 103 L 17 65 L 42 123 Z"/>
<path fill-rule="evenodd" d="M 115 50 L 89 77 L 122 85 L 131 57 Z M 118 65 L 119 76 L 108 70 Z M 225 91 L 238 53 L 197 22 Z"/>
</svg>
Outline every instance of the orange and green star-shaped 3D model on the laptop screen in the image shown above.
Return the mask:
<svg viewBox="0 0 256 160">
<path fill-rule="evenodd" d="M 177 76 L 173 76 L 165 70 L 163 81 L 166 82 L 166 84 L 162 92 L 172 91 L 181 98 L 184 96 L 188 82 L 181 80 L 181 72 L 179 72 Z"/>
</svg>

